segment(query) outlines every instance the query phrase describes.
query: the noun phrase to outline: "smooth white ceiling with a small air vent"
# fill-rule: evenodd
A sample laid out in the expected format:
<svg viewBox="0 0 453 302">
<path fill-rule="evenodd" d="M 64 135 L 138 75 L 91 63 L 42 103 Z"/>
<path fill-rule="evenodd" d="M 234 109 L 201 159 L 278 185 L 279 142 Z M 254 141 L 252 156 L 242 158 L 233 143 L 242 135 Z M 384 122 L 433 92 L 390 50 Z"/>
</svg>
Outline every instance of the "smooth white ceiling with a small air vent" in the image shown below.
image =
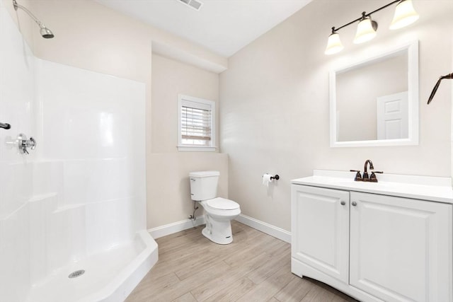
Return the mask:
<svg viewBox="0 0 453 302">
<path fill-rule="evenodd" d="M 311 0 L 95 0 L 105 6 L 230 57 Z"/>
</svg>

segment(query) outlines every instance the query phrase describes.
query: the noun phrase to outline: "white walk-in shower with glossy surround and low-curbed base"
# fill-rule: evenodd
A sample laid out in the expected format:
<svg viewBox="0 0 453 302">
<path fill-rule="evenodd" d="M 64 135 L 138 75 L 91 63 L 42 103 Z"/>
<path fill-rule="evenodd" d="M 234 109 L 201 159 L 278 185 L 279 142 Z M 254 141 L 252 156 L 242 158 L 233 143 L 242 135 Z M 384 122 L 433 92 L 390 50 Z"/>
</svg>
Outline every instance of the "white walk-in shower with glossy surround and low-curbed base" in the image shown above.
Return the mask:
<svg viewBox="0 0 453 302">
<path fill-rule="evenodd" d="M 5 6 L 0 301 L 124 301 L 157 261 L 145 84 L 35 57 Z"/>
</svg>

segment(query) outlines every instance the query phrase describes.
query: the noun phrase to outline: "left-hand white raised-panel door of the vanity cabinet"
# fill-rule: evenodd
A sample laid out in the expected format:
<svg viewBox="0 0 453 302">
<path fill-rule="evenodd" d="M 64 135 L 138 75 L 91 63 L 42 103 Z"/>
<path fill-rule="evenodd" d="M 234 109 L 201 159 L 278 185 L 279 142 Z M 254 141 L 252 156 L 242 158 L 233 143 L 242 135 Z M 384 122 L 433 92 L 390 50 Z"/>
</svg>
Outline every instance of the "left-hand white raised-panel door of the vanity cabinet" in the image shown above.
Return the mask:
<svg viewBox="0 0 453 302">
<path fill-rule="evenodd" d="M 292 185 L 291 210 L 292 257 L 348 283 L 349 192 Z"/>
</svg>

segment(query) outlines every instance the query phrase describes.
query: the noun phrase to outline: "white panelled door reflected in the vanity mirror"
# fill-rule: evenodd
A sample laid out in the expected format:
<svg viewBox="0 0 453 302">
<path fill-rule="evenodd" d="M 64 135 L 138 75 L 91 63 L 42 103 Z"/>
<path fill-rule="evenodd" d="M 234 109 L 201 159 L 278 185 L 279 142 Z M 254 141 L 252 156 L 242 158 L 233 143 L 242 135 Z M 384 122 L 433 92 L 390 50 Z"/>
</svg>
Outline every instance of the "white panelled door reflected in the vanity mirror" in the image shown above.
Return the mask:
<svg viewBox="0 0 453 302">
<path fill-rule="evenodd" d="M 377 139 L 408 139 L 408 92 L 377 98 Z"/>
</svg>

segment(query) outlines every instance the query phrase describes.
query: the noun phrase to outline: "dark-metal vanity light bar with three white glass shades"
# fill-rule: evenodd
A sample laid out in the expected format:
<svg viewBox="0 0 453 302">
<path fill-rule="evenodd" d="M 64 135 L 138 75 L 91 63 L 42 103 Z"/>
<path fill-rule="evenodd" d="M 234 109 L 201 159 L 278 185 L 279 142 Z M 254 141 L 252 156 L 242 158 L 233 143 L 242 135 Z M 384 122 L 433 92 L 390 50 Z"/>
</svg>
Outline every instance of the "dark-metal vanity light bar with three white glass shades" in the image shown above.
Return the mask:
<svg viewBox="0 0 453 302">
<path fill-rule="evenodd" d="M 357 33 L 355 34 L 354 43 L 360 44 L 372 40 L 372 38 L 376 36 L 377 22 L 372 20 L 371 15 L 396 3 L 398 4 L 396 5 L 393 21 L 391 21 L 391 30 L 403 28 L 404 26 L 407 26 L 418 20 L 418 13 L 412 6 L 412 0 L 391 1 L 389 4 L 377 8 L 371 13 L 366 13 L 365 11 L 362 12 L 362 16 L 360 18 L 357 18 L 350 23 L 346 23 L 339 28 L 333 27 L 332 33 L 328 37 L 327 47 L 324 53 L 336 54 L 337 52 L 343 50 L 344 47 L 341 44 L 340 35 L 337 32 L 341 28 L 345 28 L 346 26 L 351 25 L 352 23 L 355 23 L 357 21 L 359 22 L 359 24 L 357 25 Z"/>
</svg>

